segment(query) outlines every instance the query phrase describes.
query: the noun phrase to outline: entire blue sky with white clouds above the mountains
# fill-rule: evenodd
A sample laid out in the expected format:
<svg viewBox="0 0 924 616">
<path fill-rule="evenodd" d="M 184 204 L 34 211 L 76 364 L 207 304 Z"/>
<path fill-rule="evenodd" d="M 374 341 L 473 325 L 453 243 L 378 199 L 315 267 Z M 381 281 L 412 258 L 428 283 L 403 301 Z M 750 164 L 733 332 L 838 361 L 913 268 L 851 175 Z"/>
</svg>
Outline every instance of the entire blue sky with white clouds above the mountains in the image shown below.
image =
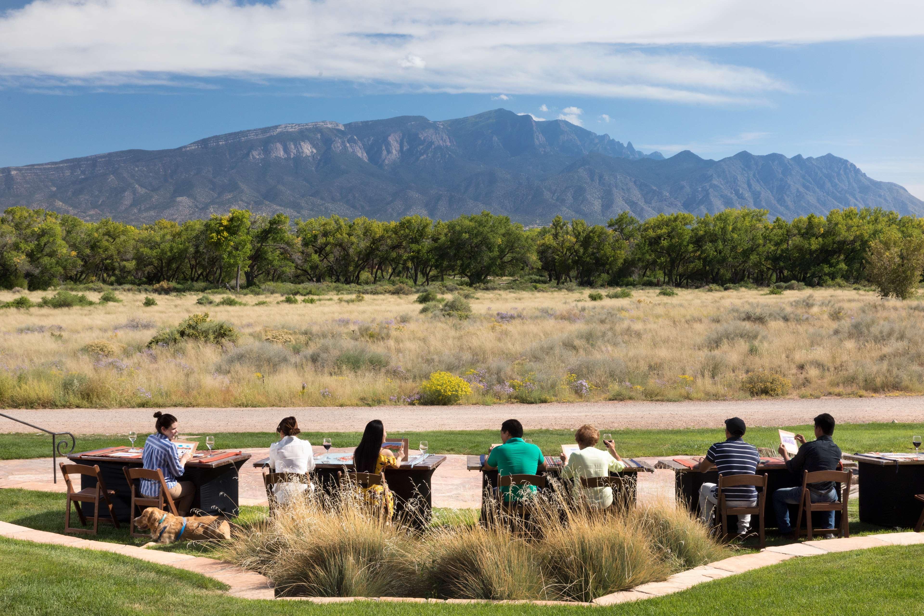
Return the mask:
<svg viewBox="0 0 924 616">
<path fill-rule="evenodd" d="M 755 4 L 0 0 L 0 166 L 504 107 L 665 155 L 832 152 L 924 199 L 924 9 Z"/>
</svg>

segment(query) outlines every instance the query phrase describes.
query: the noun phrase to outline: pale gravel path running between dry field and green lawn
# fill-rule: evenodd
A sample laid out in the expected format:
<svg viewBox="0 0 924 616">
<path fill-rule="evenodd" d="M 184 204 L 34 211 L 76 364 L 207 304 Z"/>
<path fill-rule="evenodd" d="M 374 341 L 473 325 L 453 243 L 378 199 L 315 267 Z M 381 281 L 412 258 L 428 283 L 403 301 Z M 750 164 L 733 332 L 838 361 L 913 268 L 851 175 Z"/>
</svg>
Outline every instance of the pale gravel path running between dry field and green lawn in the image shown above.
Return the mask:
<svg viewBox="0 0 924 616">
<path fill-rule="evenodd" d="M 48 429 L 75 434 L 114 434 L 133 427 L 153 427 L 152 408 L 12 409 L 4 413 Z M 547 405 L 342 406 L 305 408 L 170 408 L 180 429 L 198 432 L 270 432 L 279 419 L 298 417 L 311 431 L 357 431 L 370 419 L 383 419 L 391 430 L 498 429 L 517 417 L 527 429 L 575 429 L 592 423 L 619 428 L 720 428 L 727 417 L 741 417 L 752 426 L 810 423 L 819 413 L 839 422 L 924 422 L 924 397 L 821 398 L 730 402 L 602 402 Z M 0 417 L 0 432 L 31 429 Z"/>
</svg>

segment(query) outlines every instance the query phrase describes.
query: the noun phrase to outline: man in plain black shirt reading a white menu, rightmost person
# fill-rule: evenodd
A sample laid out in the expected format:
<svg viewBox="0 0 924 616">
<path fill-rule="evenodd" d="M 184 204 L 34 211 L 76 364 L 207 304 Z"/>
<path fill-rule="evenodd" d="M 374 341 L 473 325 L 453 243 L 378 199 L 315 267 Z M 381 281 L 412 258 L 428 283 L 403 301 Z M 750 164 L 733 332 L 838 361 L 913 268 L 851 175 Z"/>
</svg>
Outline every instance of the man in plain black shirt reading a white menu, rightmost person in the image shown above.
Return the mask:
<svg viewBox="0 0 924 616">
<path fill-rule="evenodd" d="M 831 438 L 834 433 L 834 417 L 827 413 L 822 413 L 815 417 L 815 441 L 806 442 L 801 434 L 796 434 L 796 441 L 802 446 L 799 447 L 798 453 L 790 459 L 789 453 L 783 445 L 780 445 L 780 455 L 786 462 L 786 468 L 789 472 L 795 473 L 802 477 L 804 471 L 814 473 L 815 471 L 833 471 L 837 470 L 837 465 L 841 462 L 841 448 L 834 444 Z M 837 501 L 837 492 L 834 490 L 833 481 L 821 481 L 819 483 L 808 484 L 808 494 L 812 502 L 833 502 Z M 776 519 L 780 524 L 780 534 L 787 535 L 793 532 L 792 526 L 789 525 L 789 505 L 798 504 L 802 498 L 802 488 L 782 488 L 773 492 L 773 510 L 776 512 Z M 825 516 L 827 525 L 825 528 L 834 527 L 834 512 L 821 512 Z M 825 537 L 833 537 L 828 533 Z"/>
</svg>

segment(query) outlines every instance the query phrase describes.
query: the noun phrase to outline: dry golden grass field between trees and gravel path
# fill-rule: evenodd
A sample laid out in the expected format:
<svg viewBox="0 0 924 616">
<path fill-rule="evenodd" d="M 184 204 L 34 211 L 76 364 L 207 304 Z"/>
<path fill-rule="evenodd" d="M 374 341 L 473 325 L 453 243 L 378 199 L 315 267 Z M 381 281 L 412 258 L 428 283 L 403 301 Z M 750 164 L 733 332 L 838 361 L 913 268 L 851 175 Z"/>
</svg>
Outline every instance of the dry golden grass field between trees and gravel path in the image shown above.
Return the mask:
<svg viewBox="0 0 924 616">
<path fill-rule="evenodd" d="M 924 304 L 857 290 L 480 291 L 468 319 L 420 314 L 415 296 L 117 295 L 0 310 L 0 405 L 407 404 L 437 370 L 469 380 L 476 404 L 924 393 Z M 201 312 L 237 328 L 237 344 L 146 346 Z"/>
</svg>

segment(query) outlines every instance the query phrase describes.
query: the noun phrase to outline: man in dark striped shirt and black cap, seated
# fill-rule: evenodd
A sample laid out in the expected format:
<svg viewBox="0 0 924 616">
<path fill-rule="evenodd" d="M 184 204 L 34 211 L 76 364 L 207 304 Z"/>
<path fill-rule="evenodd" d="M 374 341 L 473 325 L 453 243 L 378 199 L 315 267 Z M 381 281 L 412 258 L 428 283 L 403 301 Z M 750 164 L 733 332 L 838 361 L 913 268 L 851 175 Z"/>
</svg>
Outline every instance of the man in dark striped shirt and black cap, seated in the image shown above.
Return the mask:
<svg viewBox="0 0 924 616">
<path fill-rule="evenodd" d="M 714 443 L 706 457 L 699 462 L 699 472 L 707 473 L 714 467 L 720 476 L 755 475 L 760 464 L 757 448 L 742 437 L 745 435 L 745 422 L 738 417 L 725 419 L 725 440 Z M 711 525 L 712 513 L 718 503 L 719 487 L 714 483 L 704 483 L 699 489 L 699 520 Z M 729 507 L 753 507 L 757 504 L 757 490 L 753 486 L 736 486 L 723 490 L 725 502 Z M 738 516 L 738 536 L 748 534 L 750 515 Z"/>
</svg>

